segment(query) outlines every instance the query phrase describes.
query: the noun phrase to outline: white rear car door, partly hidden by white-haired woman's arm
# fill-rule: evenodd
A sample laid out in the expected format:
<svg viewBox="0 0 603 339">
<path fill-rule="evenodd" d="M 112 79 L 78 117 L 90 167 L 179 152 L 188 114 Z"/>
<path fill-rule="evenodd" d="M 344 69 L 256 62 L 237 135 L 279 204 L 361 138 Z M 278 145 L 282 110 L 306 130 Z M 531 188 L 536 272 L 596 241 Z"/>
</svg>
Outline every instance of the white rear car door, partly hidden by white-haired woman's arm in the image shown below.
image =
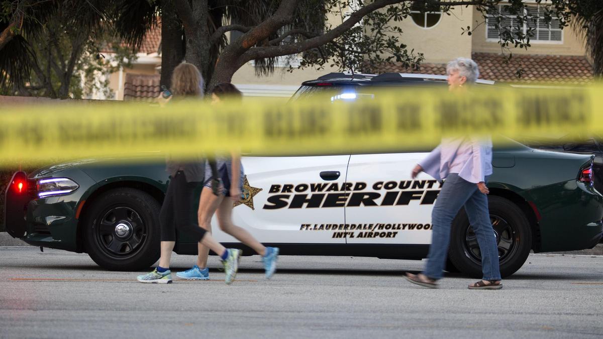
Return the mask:
<svg viewBox="0 0 603 339">
<path fill-rule="evenodd" d="M 358 189 L 346 204 L 348 244 L 431 243 L 431 210 L 440 183 L 425 173 L 411 179 L 412 168 L 427 154 L 350 157 L 347 182 Z"/>
</svg>

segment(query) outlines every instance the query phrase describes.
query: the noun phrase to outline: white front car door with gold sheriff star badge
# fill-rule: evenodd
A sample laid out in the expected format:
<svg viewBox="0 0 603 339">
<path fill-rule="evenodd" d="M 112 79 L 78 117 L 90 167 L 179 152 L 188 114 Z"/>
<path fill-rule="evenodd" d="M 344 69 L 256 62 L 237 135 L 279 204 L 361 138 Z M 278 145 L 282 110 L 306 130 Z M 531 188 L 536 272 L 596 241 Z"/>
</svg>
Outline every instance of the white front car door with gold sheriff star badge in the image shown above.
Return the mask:
<svg viewBox="0 0 603 339">
<path fill-rule="evenodd" d="M 243 157 L 244 198 L 233 209 L 234 223 L 260 242 L 345 244 L 333 234 L 344 224 L 340 200 L 349 160 L 349 154 Z M 212 225 L 218 241 L 236 241 L 215 219 Z"/>
</svg>

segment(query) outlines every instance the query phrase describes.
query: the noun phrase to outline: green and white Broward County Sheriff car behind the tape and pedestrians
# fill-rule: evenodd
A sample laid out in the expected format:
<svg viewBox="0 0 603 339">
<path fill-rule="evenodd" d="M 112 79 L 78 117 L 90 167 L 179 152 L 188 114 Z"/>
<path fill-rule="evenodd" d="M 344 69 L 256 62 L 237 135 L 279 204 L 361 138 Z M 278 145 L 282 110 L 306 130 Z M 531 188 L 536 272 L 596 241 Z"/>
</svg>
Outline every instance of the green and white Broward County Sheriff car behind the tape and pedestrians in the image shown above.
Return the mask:
<svg viewBox="0 0 603 339">
<path fill-rule="evenodd" d="M 445 77 L 329 74 L 303 83 L 292 100 L 323 92 L 355 100 L 379 87 L 420 86 L 446 86 Z M 426 258 L 441 186 L 426 174 L 413 180 L 410 173 L 428 151 L 245 156 L 243 195 L 233 219 L 260 242 L 280 247 L 282 255 Z M 517 142 L 495 145 L 493 154 L 488 200 L 503 276 L 519 270 L 530 250 L 596 245 L 603 233 L 603 196 L 593 188 L 592 154 L 534 150 Z M 163 159 L 121 165 L 81 160 L 19 172 L 7 189 L 6 226 L 29 244 L 86 252 L 109 270 L 140 270 L 159 258 L 158 214 L 168 180 Z M 218 227 L 213 235 L 226 246 L 244 247 Z M 197 244 L 180 233 L 175 252 L 195 255 Z M 447 269 L 481 277 L 480 262 L 475 233 L 461 210 Z"/>
</svg>

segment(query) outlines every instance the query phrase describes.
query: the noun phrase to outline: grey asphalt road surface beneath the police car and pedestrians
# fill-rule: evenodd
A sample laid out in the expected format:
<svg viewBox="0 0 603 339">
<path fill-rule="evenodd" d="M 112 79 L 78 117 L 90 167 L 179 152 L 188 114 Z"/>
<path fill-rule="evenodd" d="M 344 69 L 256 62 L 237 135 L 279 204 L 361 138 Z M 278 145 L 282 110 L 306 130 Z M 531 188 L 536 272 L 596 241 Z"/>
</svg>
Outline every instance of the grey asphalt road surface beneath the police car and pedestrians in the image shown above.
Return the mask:
<svg viewBox="0 0 603 339">
<path fill-rule="evenodd" d="M 264 279 L 258 256 L 232 285 L 210 258 L 205 282 L 140 284 L 87 255 L 0 247 L 0 337 L 601 338 L 603 257 L 530 255 L 499 291 L 411 285 L 421 261 L 282 256 Z M 174 255 L 172 271 L 194 256 Z"/>
</svg>

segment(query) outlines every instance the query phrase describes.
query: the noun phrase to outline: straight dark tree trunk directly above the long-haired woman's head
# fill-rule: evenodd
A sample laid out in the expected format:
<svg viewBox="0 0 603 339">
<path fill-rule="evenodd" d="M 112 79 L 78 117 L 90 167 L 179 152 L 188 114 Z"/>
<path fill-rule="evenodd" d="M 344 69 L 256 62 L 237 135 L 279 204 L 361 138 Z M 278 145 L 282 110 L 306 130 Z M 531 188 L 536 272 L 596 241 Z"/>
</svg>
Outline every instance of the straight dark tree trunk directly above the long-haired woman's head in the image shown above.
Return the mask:
<svg viewBox="0 0 603 339">
<path fill-rule="evenodd" d="M 170 88 L 174 68 L 184 57 L 182 24 L 172 0 L 161 2 L 161 86 Z"/>
</svg>

